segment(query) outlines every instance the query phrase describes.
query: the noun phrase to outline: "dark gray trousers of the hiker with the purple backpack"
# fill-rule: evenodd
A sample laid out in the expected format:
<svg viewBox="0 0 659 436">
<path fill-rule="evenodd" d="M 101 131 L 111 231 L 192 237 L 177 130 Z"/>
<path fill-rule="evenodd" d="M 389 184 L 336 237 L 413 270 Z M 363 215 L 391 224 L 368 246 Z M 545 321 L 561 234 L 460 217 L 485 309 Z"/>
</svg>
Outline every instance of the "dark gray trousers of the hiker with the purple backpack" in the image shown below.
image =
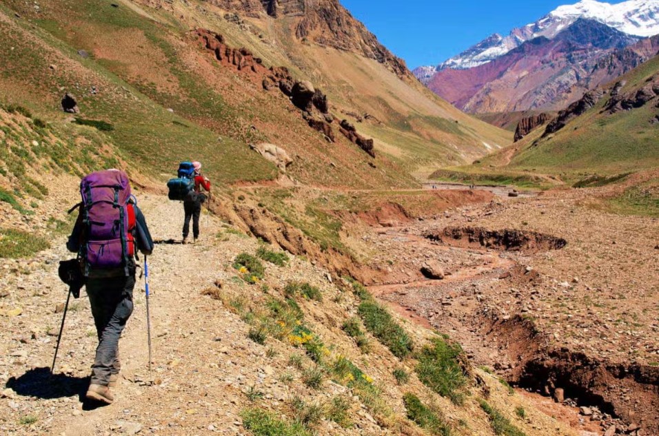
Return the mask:
<svg viewBox="0 0 659 436">
<path fill-rule="evenodd" d="M 134 274 L 128 277 L 90 278 L 87 294 L 94 315 L 99 346 L 92 366 L 92 384 L 108 386 L 118 374 L 119 337 L 133 311 Z"/>
</svg>

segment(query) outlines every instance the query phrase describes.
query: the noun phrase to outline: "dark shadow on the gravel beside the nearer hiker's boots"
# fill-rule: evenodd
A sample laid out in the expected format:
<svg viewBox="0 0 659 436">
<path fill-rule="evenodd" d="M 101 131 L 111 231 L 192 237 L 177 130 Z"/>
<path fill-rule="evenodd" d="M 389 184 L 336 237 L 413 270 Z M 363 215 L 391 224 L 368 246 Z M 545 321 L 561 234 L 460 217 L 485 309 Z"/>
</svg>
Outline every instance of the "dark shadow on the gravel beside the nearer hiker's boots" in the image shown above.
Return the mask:
<svg viewBox="0 0 659 436">
<path fill-rule="evenodd" d="M 83 410 L 91 411 L 104 403 L 90 401 L 85 398 L 90 377 L 73 377 L 66 374 L 52 374 L 50 368 L 34 368 L 20 377 L 11 377 L 6 387 L 22 397 L 37 397 L 40 399 L 55 399 L 78 396 L 83 404 Z"/>
</svg>

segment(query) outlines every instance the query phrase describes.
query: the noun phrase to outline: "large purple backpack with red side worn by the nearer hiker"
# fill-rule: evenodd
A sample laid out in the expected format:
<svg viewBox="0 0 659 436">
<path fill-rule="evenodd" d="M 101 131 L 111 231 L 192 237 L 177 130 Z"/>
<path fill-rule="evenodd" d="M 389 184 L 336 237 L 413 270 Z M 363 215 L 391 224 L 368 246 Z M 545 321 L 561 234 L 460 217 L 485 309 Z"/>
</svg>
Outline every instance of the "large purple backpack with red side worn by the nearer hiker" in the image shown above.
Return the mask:
<svg viewBox="0 0 659 436">
<path fill-rule="evenodd" d="M 125 269 L 134 256 L 135 210 L 128 176 L 118 169 L 94 172 L 80 183 L 85 276 L 90 269 Z"/>
</svg>

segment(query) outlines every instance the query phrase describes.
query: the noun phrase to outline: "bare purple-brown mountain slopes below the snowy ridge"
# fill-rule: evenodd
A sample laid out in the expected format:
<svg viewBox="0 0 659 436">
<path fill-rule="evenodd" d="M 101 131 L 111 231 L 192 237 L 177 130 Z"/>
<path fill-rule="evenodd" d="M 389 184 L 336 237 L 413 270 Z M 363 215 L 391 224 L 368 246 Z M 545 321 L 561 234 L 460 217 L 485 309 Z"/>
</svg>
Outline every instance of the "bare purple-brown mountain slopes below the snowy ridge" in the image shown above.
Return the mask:
<svg viewBox="0 0 659 436">
<path fill-rule="evenodd" d="M 472 113 L 558 110 L 659 51 L 659 37 L 637 41 L 580 19 L 554 39 L 527 41 L 485 65 L 437 72 L 428 86 Z"/>
</svg>

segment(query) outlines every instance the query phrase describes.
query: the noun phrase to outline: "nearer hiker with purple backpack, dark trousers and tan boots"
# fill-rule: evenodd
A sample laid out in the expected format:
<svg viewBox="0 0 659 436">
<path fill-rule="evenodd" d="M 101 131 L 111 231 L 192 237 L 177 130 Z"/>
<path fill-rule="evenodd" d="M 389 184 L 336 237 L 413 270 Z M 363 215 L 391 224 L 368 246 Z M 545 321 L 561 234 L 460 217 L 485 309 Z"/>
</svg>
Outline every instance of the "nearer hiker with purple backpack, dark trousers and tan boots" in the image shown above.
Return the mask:
<svg viewBox="0 0 659 436">
<path fill-rule="evenodd" d="M 119 379 L 119 337 L 133 310 L 137 251 L 148 256 L 153 240 L 128 176 L 117 169 L 89 174 L 66 247 L 78 253 L 99 345 L 86 397 L 111 404 Z"/>
</svg>

